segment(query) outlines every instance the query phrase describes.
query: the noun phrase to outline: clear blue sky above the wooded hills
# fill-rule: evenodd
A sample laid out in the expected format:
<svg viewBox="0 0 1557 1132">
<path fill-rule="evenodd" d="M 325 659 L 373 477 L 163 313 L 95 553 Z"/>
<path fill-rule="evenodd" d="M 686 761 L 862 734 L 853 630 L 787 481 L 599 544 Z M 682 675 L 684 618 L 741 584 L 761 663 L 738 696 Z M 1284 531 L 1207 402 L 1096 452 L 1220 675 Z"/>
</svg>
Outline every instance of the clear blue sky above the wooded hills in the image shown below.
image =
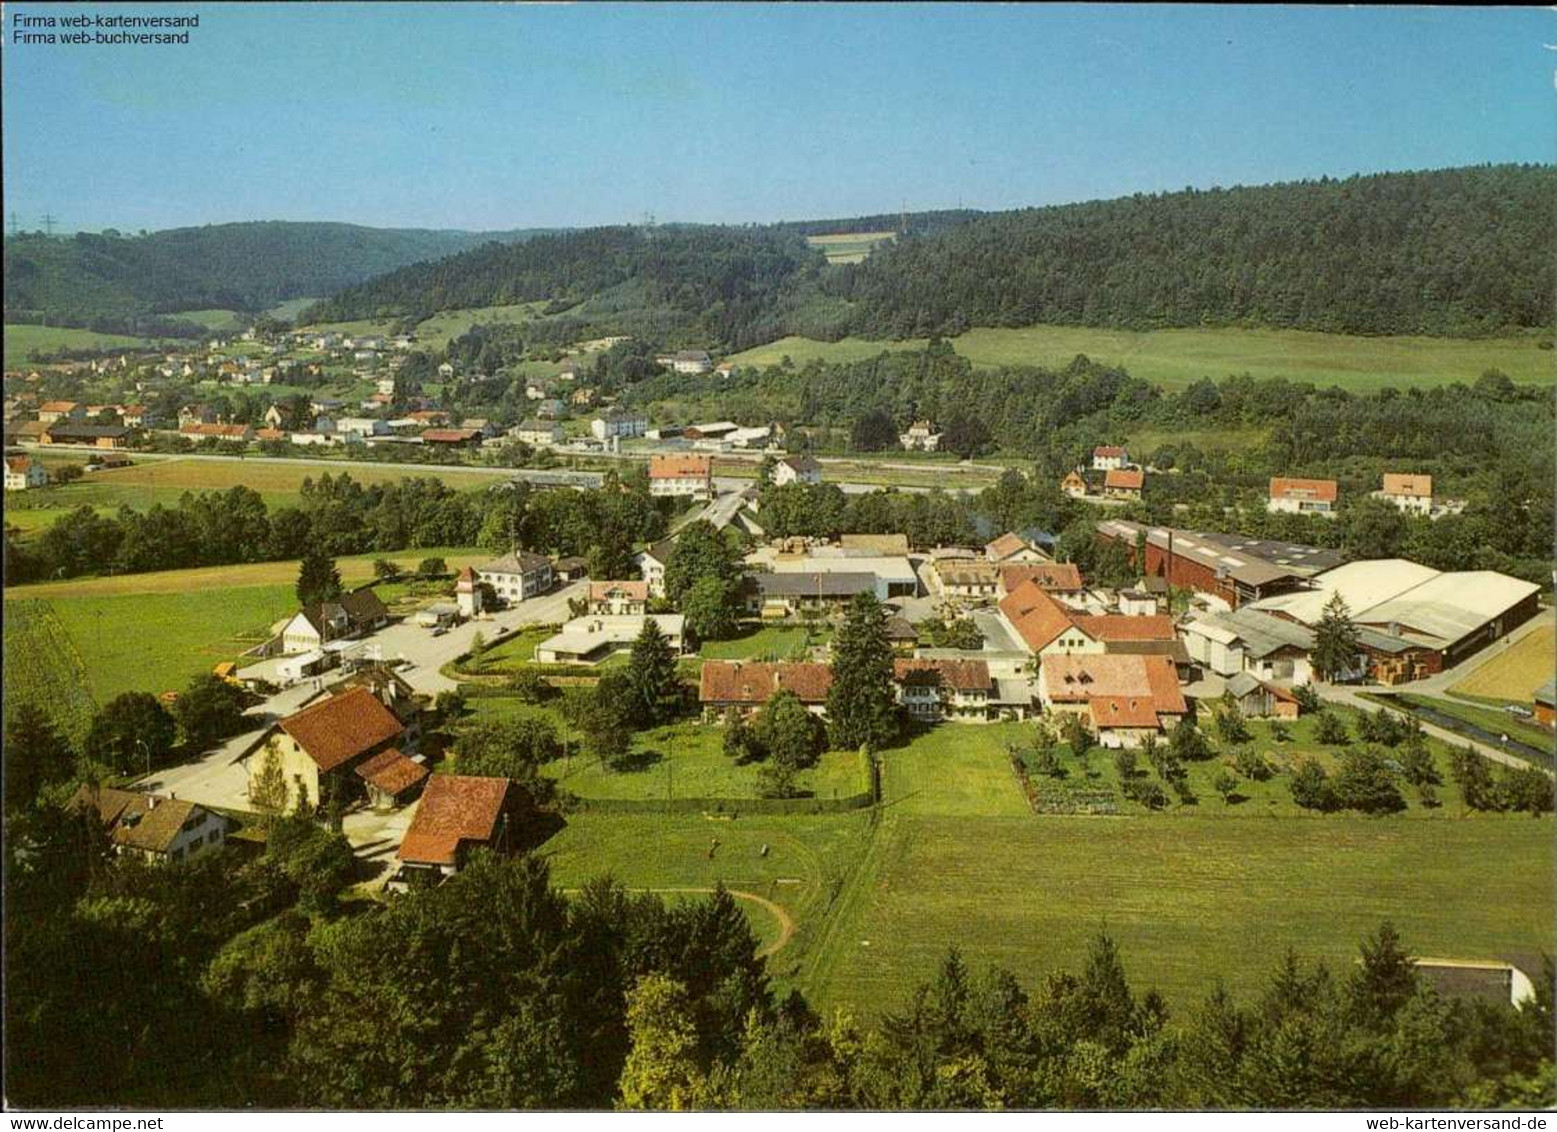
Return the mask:
<svg viewBox="0 0 1557 1132">
<path fill-rule="evenodd" d="M 12 19 L 199 12 L 188 47 Z M 1543 9 L 6 5 L 23 227 L 1004 209 L 1554 160 Z"/>
</svg>

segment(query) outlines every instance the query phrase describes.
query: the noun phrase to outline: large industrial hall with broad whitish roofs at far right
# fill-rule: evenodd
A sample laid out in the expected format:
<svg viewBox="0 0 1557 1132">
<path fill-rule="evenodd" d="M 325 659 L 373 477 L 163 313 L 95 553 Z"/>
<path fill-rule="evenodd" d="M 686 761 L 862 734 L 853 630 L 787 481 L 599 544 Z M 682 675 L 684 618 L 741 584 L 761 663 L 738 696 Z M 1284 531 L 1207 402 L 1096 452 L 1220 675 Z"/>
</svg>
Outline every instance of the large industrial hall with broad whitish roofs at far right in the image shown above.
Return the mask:
<svg viewBox="0 0 1557 1132">
<path fill-rule="evenodd" d="M 1537 612 L 1540 587 L 1493 570 L 1440 573 L 1408 559 L 1347 562 L 1313 589 L 1255 604 L 1275 617 L 1319 624 L 1336 595 L 1359 629 L 1365 670 L 1386 684 L 1457 665 Z"/>
</svg>

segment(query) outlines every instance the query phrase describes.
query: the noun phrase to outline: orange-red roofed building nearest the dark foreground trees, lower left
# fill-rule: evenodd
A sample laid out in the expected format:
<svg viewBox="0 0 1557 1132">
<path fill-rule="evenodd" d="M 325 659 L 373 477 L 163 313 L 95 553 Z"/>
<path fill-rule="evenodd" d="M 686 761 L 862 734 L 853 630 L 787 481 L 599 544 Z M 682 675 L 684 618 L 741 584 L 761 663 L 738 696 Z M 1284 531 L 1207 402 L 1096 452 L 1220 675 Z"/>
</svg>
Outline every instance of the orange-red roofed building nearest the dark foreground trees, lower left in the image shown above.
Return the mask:
<svg viewBox="0 0 1557 1132">
<path fill-rule="evenodd" d="M 434 774 L 400 841 L 400 869 L 388 886 L 438 883 L 459 872 L 476 849 L 509 852 L 525 810 L 525 793 L 508 779 Z"/>
</svg>

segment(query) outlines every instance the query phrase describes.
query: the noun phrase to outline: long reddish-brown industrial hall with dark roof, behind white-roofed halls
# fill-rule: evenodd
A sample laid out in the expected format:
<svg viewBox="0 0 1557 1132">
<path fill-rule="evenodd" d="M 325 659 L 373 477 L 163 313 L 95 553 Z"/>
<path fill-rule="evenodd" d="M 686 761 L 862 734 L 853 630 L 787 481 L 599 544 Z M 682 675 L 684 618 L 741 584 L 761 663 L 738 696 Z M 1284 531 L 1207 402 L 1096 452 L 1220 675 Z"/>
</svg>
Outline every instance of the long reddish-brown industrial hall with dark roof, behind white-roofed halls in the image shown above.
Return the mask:
<svg viewBox="0 0 1557 1132">
<path fill-rule="evenodd" d="M 1337 550 L 1172 526 L 1148 528 L 1121 519 L 1099 522 L 1098 536 L 1121 543 L 1132 565 L 1148 579 L 1165 578 L 1177 589 L 1210 593 L 1233 607 L 1300 589 L 1306 579 L 1344 561 Z M 1137 540 L 1146 543 L 1144 567 L 1137 561 Z"/>
</svg>

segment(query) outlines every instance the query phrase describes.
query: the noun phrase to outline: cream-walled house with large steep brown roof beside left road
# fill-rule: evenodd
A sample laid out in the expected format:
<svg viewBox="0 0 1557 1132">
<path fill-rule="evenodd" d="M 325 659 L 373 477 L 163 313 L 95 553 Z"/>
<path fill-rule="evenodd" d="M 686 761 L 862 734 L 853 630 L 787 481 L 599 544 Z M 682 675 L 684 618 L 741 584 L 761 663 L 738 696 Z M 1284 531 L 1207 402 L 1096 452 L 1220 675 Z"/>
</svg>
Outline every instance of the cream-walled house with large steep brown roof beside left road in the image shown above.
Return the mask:
<svg viewBox="0 0 1557 1132">
<path fill-rule="evenodd" d="M 369 688 L 327 696 L 276 722 L 243 757 L 249 802 L 290 811 L 299 799 L 321 805 L 339 793 L 366 793 L 353 771 L 371 757 L 405 743 L 405 726 Z"/>
</svg>

